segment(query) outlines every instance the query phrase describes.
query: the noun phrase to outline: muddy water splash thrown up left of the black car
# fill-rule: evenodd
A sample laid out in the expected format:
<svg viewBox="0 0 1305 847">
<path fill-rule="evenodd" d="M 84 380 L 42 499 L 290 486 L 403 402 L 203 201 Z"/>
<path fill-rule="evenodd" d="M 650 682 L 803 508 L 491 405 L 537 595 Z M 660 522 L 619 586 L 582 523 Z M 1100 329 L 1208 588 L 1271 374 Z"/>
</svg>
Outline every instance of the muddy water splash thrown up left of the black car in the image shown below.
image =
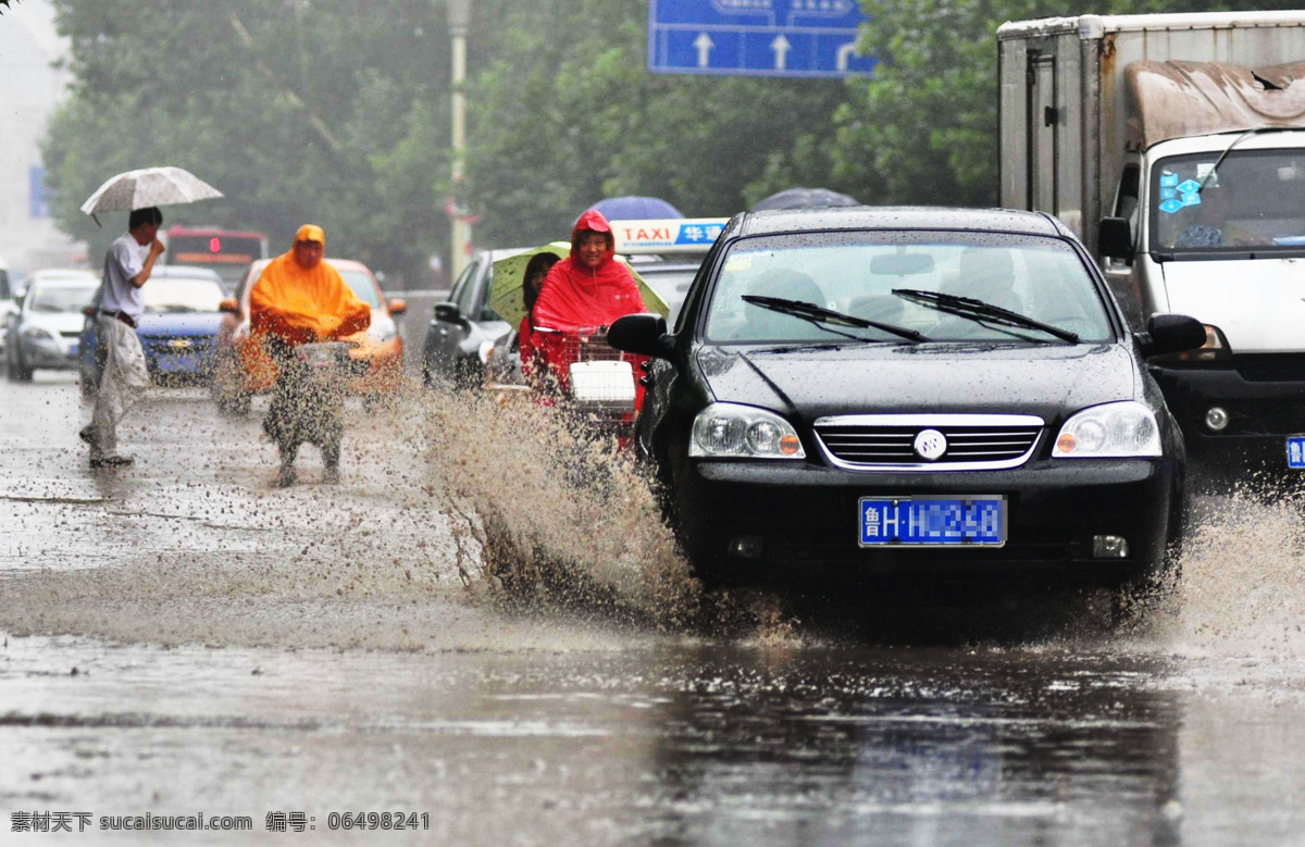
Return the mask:
<svg viewBox="0 0 1305 847">
<path fill-rule="evenodd" d="M 616 439 L 529 394 L 440 394 L 428 427 L 446 495 L 510 596 L 663 628 L 698 617 L 698 585 Z"/>
</svg>

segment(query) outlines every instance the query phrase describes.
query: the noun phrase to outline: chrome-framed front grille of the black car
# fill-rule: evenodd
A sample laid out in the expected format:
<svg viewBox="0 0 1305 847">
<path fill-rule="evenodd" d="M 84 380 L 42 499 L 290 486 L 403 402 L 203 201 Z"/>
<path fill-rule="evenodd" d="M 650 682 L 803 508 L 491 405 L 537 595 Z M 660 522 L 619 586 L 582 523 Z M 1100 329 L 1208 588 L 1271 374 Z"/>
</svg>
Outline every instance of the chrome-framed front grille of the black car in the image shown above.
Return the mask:
<svg viewBox="0 0 1305 847">
<path fill-rule="evenodd" d="M 996 470 L 1027 462 L 1043 428 L 1031 415 L 847 415 L 817 420 L 816 437 L 829 459 L 848 470 Z M 914 446 L 925 429 L 947 440 L 932 462 Z"/>
</svg>

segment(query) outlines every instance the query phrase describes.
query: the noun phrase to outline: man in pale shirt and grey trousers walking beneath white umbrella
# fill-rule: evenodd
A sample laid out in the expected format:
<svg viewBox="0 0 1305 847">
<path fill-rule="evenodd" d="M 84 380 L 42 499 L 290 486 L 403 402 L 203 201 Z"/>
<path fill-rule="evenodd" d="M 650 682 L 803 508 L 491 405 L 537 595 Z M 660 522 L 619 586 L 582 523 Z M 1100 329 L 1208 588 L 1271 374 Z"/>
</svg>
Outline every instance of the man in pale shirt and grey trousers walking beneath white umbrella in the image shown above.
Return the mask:
<svg viewBox="0 0 1305 847">
<path fill-rule="evenodd" d="M 163 213 L 157 206 L 133 210 L 127 232 L 104 256 L 103 294 L 95 316 L 95 351 L 104 356 L 104 369 L 91 423 L 78 433 L 90 445 L 91 467 L 128 467 L 136 461 L 117 453 L 117 424 L 150 382 L 136 324 L 145 312 L 141 288 L 164 249 L 158 240 L 161 223 Z"/>
</svg>

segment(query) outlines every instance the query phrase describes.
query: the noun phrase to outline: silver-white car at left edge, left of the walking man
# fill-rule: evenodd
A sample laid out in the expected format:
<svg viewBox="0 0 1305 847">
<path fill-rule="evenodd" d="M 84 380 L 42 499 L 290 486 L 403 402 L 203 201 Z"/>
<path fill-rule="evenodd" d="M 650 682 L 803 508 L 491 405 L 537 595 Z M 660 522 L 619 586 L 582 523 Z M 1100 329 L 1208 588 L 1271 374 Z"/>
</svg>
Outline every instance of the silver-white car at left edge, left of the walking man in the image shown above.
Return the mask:
<svg viewBox="0 0 1305 847">
<path fill-rule="evenodd" d="M 27 382 L 33 371 L 77 369 L 77 345 L 99 277 L 89 270 L 38 270 L 9 321 L 5 371 L 13 382 Z"/>
</svg>

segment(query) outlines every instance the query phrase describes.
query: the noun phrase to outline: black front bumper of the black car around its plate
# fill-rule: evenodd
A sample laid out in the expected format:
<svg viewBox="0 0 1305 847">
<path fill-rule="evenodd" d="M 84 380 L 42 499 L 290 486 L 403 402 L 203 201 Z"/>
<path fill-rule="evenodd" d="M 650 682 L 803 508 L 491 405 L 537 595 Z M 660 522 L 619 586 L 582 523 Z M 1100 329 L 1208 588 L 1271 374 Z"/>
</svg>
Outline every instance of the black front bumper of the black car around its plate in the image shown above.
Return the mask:
<svg viewBox="0 0 1305 847">
<path fill-rule="evenodd" d="M 696 562 L 732 569 L 847 570 L 886 577 L 1117 582 L 1163 561 L 1181 466 L 1171 459 L 1043 459 L 1001 471 L 852 472 L 809 462 L 689 459 L 675 479 L 681 538 Z M 1006 499 L 997 547 L 861 547 L 861 497 Z M 1094 536 L 1126 539 L 1126 557 L 1094 556 Z M 753 557 L 731 549 L 750 540 Z"/>
</svg>

